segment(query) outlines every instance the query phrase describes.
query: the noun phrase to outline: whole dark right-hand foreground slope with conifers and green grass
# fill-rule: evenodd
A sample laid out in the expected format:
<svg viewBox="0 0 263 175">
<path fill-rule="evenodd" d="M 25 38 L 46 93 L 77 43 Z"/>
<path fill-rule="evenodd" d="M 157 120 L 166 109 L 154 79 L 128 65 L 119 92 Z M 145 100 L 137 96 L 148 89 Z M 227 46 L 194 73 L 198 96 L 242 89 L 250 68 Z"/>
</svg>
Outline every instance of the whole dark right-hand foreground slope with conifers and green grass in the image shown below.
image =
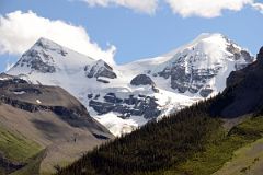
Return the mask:
<svg viewBox="0 0 263 175">
<path fill-rule="evenodd" d="M 251 66 L 259 66 L 260 55 L 258 61 Z M 240 71 L 249 74 L 247 68 Z M 253 73 L 259 72 L 261 70 L 255 69 Z M 250 78 L 243 78 L 210 100 L 186 107 L 158 122 L 149 122 L 130 135 L 94 149 L 58 174 L 210 175 L 220 170 L 225 163 L 235 162 L 233 154 L 237 150 L 251 148 L 250 151 L 253 152 L 253 147 L 250 147 L 252 143 L 259 148 L 256 149 L 259 152 L 253 158 L 254 162 L 249 162 L 252 165 L 240 164 L 235 168 L 241 174 L 253 172 L 255 175 L 261 175 L 262 168 L 259 164 L 261 160 L 256 159 L 261 155 L 263 145 L 261 108 L 253 108 L 247 117 L 236 116 L 240 118 L 239 122 L 228 128 L 224 128 L 224 124 L 232 119 L 232 116 L 220 116 L 225 108 L 236 102 L 228 98 L 232 92 L 237 92 L 233 100 L 238 100 L 243 93 L 251 91 L 249 85 L 244 85 Z M 254 79 L 250 82 L 261 84 L 263 80 Z M 239 92 L 240 86 L 242 92 Z M 262 92 L 263 89 L 259 91 Z M 261 101 L 248 103 L 251 103 L 251 106 L 263 106 Z M 248 156 L 244 161 L 251 159 Z"/>
</svg>

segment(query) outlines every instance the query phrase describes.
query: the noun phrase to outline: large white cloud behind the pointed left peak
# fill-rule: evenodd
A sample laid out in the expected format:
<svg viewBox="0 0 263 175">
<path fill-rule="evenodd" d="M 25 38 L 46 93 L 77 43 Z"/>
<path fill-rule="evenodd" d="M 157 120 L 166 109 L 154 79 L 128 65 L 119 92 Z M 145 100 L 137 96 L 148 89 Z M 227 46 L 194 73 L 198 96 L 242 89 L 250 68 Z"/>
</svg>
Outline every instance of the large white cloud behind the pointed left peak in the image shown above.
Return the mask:
<svg viewBox="0 0 263 175">
<path fill-rule="evenodd" d="M 115 47 L 103 50 L 91 42 L 82 26 L 75 26 L 64 21 L 53 21 L 28 11 L 15 11 L 0 15 L 0 54 L 21 55 L 39 37 L 49 38 L 94 59 L 104 59 L 113 63 Z"/>
</svg>

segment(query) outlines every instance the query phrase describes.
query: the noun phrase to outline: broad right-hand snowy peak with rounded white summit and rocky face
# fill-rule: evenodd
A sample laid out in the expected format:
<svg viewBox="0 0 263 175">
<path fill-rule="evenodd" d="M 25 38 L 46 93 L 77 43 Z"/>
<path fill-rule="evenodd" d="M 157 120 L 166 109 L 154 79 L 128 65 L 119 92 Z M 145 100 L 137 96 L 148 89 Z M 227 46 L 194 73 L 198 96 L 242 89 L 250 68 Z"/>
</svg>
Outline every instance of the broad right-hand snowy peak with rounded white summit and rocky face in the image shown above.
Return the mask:
<svg viewBox="0 0 263 175">
<path fill-rule="evenodd" d="M 207 97 L 222 91 L 231 71 L 251 63 L 254 58 L 221 34 L 202 34 L 161 57 L 128 63 L 155 78 L 163 78 L 178 93 Z M 126 69 L 127 69 L 126 68 Z M 158 86 L 158 84 L 157 84 Z"/>
</svg>

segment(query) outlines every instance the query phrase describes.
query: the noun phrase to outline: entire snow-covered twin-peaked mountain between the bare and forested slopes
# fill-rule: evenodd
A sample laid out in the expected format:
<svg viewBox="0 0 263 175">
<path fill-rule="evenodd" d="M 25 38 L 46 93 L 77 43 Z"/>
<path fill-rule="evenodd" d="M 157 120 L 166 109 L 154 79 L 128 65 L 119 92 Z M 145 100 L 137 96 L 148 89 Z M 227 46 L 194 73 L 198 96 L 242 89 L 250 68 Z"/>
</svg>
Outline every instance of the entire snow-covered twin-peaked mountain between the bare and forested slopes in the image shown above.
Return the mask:
<svg viewBox="0 0 263 175">
<path fill-rule="evenodd" d="M 203 34 L 161 57 L 110 66 L 41 38 L 7 73 L 59 85 L 114 135 L 216 95 L 253 57 L 221 34 Z"/>
</svg>

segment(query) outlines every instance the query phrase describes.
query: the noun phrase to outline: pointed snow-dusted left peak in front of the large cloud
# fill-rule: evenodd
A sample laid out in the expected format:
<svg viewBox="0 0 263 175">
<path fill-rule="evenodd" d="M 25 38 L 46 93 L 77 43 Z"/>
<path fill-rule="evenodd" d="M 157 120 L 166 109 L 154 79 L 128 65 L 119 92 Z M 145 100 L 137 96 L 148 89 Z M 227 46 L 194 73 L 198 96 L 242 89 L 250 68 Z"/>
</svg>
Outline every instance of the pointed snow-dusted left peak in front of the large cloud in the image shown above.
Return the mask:
<svg viewBox="0 0 263 175">
<path fill-rule="evenodd" d="M 69 68 L 79 69 L 92 61 L 94 59 L 42 37 L 22 55 L 9 72 L 15 71 L 14 68 L 18 68 L 20 71 L 18 73 L 24 74 L 33 71 L 54 73 Z"/>
</svg>

